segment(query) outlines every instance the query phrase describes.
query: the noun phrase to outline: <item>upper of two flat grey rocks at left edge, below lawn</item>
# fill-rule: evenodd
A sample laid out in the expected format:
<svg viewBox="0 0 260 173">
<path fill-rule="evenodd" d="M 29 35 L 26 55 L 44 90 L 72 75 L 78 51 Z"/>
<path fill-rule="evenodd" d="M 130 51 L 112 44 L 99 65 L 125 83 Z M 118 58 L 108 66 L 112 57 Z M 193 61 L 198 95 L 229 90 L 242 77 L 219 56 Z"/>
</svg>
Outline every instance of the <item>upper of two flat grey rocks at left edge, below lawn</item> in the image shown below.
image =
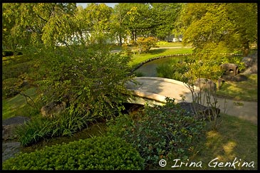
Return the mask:
<svg viewBox="0 0 260 173">
<path fill-rule="evenodd" d="M 30 120 L 28 117 L 10 117 L 9 119 L 3 120 L 2 122 L 2 139 L 3 140 L 14 140 L 17 138 L 15 130 L 18 125 L 24 124 L 24 122 Z"/>
</svg>

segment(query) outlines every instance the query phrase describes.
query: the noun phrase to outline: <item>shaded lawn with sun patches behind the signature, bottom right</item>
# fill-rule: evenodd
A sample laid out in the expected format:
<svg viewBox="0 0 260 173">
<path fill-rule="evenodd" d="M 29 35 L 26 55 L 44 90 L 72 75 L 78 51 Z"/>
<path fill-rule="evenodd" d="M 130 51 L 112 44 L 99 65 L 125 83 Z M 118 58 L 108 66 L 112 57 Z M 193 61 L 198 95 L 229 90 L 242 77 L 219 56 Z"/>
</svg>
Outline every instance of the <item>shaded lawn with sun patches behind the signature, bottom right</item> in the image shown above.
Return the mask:
<svg viewBox="0 0 260 173">
<path fill-rule="evenodd" d="M 243 162 L 254 162 L 254 167 L 239 167 L 238 163 L 235 164 L 236 170 L 239 169 L 257 169 L 257 126 L 249 121 L 241 120 L 238 117 L 221 114 L 219 117 L 221 124 L 218 131 L 208 130 L 206 135 L 202 137 L 202 140 L 196 146 L 199 151 L 194 153 L 189 158 L 188 166 L 172 167 L 175 162 L 172 160 L 166 160 L 166 167 L 154 167 L 153 169 L 160 170 L 222 170 L 229 169 L 234 170 L 234 167 L 209 167 L 209 162 L 212 159 L 219 158 L 217 162 L 233 162 L 235 157 L 241 164 Z M 178 158 L 174 158 L 178 159 Z M 187 162 L 187 160 L 181 160 Z M 191 162 L 202 162 L 202 167 L 189 167 Z M 216 162 L 216 161 L 215 161 Z M 240 166 L 241 166 L 240 164 Z M 180 166 L 180 161 L 176 165 Z M 197 164 L 199 166 L 199 164 Z M 214 164 L 211 164 L 214 166 Z"/>
</svg>

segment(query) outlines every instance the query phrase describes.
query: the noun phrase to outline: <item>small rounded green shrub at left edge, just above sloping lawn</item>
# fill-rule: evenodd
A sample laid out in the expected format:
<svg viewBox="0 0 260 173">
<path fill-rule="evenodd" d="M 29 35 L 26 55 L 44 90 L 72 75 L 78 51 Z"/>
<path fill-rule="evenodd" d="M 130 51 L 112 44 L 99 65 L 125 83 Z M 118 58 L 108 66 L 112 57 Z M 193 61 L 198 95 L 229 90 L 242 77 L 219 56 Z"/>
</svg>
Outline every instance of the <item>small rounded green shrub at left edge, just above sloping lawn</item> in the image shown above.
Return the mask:
<svg viewBox="0 0 260 173">
<path fill-rule="evenodd" d="M 18 78 L 8 78 L 3 80 L 2 96 L 4 98 L 14 97 L 18 94 L 18 89 L 21 87 L 23 81 Z"/>
</svg>

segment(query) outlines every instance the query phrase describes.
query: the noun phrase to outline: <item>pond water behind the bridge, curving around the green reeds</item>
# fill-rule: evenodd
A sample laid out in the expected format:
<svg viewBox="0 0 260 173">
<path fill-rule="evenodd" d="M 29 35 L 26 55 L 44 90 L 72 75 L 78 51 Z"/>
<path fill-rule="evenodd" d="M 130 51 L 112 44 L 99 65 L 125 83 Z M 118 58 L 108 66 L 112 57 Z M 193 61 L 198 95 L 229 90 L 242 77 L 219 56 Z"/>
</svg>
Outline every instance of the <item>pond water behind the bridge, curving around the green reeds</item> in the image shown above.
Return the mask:
<svg viewBox="0 0 260 173">
<path fill-rule="evenodd" d="M 174 59 L 183 59 L 185 57 L 187 57 L 187 56 L 173 56 L 173 57 L 157 59 L 155 61 L 150 61 L 149 63 L 145 63 L 140 68 L 137 68 L 137 70 L 135 70 L 135 71 L 142 73 L 142 75 L 145 77 L 157 77 L 156 68 L 158 65 L 170 63 Z"/>
</svg>

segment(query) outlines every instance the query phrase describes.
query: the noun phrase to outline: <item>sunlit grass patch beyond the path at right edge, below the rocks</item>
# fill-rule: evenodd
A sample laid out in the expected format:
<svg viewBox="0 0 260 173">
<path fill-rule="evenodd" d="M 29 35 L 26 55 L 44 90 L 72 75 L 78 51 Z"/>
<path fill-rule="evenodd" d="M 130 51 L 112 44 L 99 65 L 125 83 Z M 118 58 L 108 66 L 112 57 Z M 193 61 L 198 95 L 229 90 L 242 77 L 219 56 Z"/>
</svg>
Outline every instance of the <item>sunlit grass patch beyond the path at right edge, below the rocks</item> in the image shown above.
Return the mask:
<svg viewBox="0 0 260 173">
<path fill-rule="evenodd" d="M 217 91 L 220 97 L 234 100 L 257 101 L 257 74 L 246 75 L 248 80 L 241 82 L 226 81 Z"/>
</svg>

